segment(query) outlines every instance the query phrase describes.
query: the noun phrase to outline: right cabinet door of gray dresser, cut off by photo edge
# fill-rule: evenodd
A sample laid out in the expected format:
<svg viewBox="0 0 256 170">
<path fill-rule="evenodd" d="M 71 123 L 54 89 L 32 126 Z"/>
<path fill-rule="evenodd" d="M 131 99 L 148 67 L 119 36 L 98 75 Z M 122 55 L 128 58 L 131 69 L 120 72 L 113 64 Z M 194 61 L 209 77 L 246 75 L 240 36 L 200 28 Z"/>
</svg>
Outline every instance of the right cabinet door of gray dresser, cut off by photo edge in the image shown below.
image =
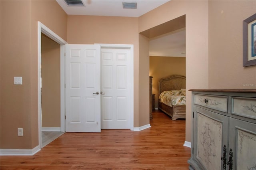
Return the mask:
<svg viewBox="0 0 256 170">
<path fill-rule="evenodd" d="M 233 151 L 233 169 L 256 169 L 256 124 L 230 118 L 229 129 L 228 151 Z"/>
</svg>

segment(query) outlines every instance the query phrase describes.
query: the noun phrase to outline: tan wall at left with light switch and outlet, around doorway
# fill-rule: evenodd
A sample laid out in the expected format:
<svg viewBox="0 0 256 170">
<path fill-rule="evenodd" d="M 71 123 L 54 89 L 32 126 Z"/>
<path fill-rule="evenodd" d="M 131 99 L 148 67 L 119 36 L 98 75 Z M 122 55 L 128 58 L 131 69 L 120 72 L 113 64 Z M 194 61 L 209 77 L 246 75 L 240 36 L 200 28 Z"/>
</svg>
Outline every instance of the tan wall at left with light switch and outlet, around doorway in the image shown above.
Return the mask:
<svg viewBox="0 0 256 170">
<path fill-rule="evenodd" d="M 1 149 L 38 146 L 38 21 L 64 40 L 67 15 L 56 1 L 1 3 Z M 13 85 L 21 76 L 22 85 Z M 24 136 L 17 136 L 23 128 Z"/>
</svg>

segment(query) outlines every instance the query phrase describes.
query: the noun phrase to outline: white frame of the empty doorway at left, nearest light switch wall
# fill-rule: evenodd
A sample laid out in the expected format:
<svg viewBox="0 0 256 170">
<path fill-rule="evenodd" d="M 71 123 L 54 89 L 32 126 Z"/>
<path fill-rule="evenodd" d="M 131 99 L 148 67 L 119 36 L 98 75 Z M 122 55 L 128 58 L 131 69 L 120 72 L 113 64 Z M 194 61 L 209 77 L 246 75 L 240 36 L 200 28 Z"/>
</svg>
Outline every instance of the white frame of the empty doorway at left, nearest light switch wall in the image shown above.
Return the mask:
<svg viewBox="0 0 256 170">
<path fill-rule="evenodd" d="M 38 22 L 38 142 L 42 148 L 42 119 L 41 119 L 41 34 L 60 44 L 60 131 L 65 132 L 65 40 Z"/>
</svg>

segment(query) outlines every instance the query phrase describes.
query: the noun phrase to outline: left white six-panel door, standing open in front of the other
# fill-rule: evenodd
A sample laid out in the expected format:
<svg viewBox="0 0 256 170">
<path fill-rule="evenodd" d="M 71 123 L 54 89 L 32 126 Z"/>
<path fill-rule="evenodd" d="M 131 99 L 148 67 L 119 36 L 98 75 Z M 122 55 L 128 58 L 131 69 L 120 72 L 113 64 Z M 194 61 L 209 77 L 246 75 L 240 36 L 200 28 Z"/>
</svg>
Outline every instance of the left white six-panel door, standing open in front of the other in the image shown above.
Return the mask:
<svg viewBox="0 0 256 170">
<path fill-rule="evenodd" d="M 65 59 L 66 131 L 100 132 L 100 45 L 68 44 Z"/>
</svg>

